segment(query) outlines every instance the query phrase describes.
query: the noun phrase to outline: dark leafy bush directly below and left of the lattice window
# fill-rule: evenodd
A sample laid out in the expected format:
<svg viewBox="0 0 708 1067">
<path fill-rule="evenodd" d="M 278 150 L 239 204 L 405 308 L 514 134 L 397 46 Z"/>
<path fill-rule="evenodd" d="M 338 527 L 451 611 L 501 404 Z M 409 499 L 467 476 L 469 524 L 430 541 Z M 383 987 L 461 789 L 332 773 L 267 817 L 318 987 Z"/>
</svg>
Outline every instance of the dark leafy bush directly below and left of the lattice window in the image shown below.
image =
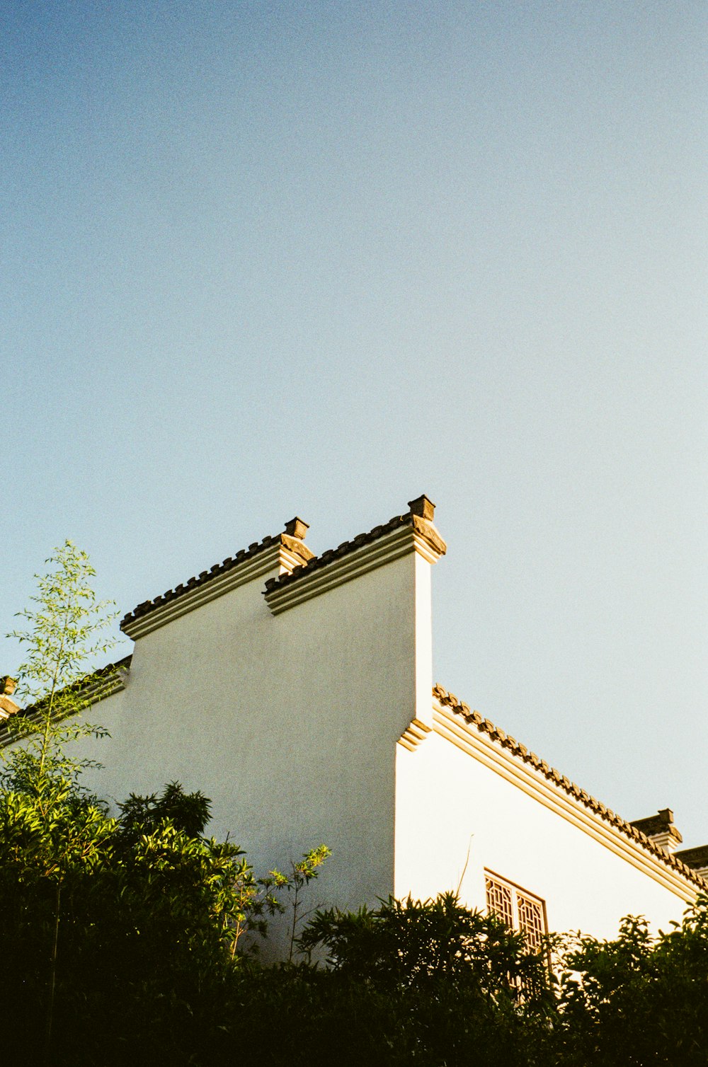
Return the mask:
<svg viewBox="0 0 708 1067">
<path fill-rule="evenodd" d="M 455 893 L 320 911 L 300 945 L 326 950 L 330 969 L 312 987 L 327 985 L 318 1063 L 525 1065 L 529 1034 L 552 1010 L 546 956 Z"/>
</svg>

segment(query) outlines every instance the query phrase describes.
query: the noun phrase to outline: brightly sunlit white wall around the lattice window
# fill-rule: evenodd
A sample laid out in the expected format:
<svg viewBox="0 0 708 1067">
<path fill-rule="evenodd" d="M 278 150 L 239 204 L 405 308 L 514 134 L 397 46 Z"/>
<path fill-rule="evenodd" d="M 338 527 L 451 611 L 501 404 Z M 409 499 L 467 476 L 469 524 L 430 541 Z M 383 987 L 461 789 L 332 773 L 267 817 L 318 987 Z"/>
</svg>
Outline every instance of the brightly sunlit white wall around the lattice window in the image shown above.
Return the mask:
<svg viewBox="0 0 708 1067">
<path fill-rule="evenodd" d="M 398 746 L 396 895 L 459 886 L 484 908 L 485 869 L 545 899 L 551 930 L 596 937 L 615 937 L 629 913 L 666 929 L 692 895 L 688 883 L 683 895 L 659 885 L 438 733 L 413 751 Z"/>
</svg>

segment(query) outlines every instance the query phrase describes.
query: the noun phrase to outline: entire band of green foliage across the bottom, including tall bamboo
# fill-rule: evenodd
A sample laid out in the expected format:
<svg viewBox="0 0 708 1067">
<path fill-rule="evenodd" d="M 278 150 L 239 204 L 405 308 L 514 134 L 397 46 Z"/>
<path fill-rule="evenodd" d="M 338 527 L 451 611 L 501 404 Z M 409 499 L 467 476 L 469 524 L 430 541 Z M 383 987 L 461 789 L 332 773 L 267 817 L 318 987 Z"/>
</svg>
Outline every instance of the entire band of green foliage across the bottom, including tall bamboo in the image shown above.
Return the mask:
<svg viewBox="0 0 708 1067">
<path fill-rule="evenodd" d="M 103 733 L 75 713 L 105 606 L 70 542 L 49 562 L 15 635 L 33 712 L 0 776 L 4 1062 L 707 1067 L 708 896 L 657 937 L 628 918 L 614 940 L 539 954 L 454 893 L 318 911 L 303 928 L 326 846 L 258 877 L 205 835 L 209 800 L 178 782 L 112 817 L 66 748 Z M 262 967 L 250 950 L 286 904 L 289 959 Z"/>
</svg>

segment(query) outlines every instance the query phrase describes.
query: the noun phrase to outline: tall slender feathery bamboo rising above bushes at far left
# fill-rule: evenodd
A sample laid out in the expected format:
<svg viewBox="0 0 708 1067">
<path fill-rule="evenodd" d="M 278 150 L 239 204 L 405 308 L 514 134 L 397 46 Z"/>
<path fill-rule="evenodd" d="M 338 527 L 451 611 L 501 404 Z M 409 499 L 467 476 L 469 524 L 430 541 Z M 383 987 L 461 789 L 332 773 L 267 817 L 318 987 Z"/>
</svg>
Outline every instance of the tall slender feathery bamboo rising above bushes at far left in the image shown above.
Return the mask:
<svg viewBox="0 0 708 1067">
<path fill-rule="evenodd" d="M 29 628 L 9 635 L 26 647 L 19 691 L 33 707 L 29 715 L 11 721 L 11 731 L 22 744 L 3 758 L 0 775 L 4 789 L 0 822 L 15 857 L 17 886 L 27 888 L 38 872 L 44 895 L 48 893 L 52 901 L 45 1060 L 52 1039 L 62 893 L 66 895 L 66 883 L 73 882 L 77 867 L 91 869 L 103 843 L 98 828 L 103 812 L 78 789 L 81 769 L 91 761 L 69 757 L 65 746 L 81 736 L 105 734 L 77 719 L 76 713 L 88 703 L 89 664 L 110 647 L 99 635 L 112 618 L 107 615 L 109 604 L 96 600 L 91 583 L 95 572 L 84 552 L 65 541 L 46 562 L 50 570 L 35 575 L 37 593 L 31 598 L 35 606 L 19 612 Z M 69 721 L 68 716 L 74 718 Z M 20 841 L 22 849 L 17 847 Z M 27 858 L 33 860 L 29 869 Z M 12 873 L 12 866 L 3 872 L 5 886 Z"/>
</svg>

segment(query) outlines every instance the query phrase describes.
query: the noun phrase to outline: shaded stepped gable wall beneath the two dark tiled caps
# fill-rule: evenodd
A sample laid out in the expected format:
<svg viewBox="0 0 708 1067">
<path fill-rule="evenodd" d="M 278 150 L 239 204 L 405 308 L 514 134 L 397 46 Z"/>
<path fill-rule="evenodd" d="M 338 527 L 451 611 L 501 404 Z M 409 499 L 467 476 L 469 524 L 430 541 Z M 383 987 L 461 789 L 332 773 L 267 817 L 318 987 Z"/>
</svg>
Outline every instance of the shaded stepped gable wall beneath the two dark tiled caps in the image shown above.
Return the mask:
<svg viewBox="0 0 708 1067">
<path fill-rule="evenodd" d="M 411 545 L 276 617 L 266 574 L 140 637 L 125 690 L 91 708 L 111 733 L 83 744 L 91 784 L 120 800 L 176 779 L 258 873 L 327 844 L 311 903 L 388 895 L 396 739 L 429 711 L 429 572 Z"/>
</svg>

